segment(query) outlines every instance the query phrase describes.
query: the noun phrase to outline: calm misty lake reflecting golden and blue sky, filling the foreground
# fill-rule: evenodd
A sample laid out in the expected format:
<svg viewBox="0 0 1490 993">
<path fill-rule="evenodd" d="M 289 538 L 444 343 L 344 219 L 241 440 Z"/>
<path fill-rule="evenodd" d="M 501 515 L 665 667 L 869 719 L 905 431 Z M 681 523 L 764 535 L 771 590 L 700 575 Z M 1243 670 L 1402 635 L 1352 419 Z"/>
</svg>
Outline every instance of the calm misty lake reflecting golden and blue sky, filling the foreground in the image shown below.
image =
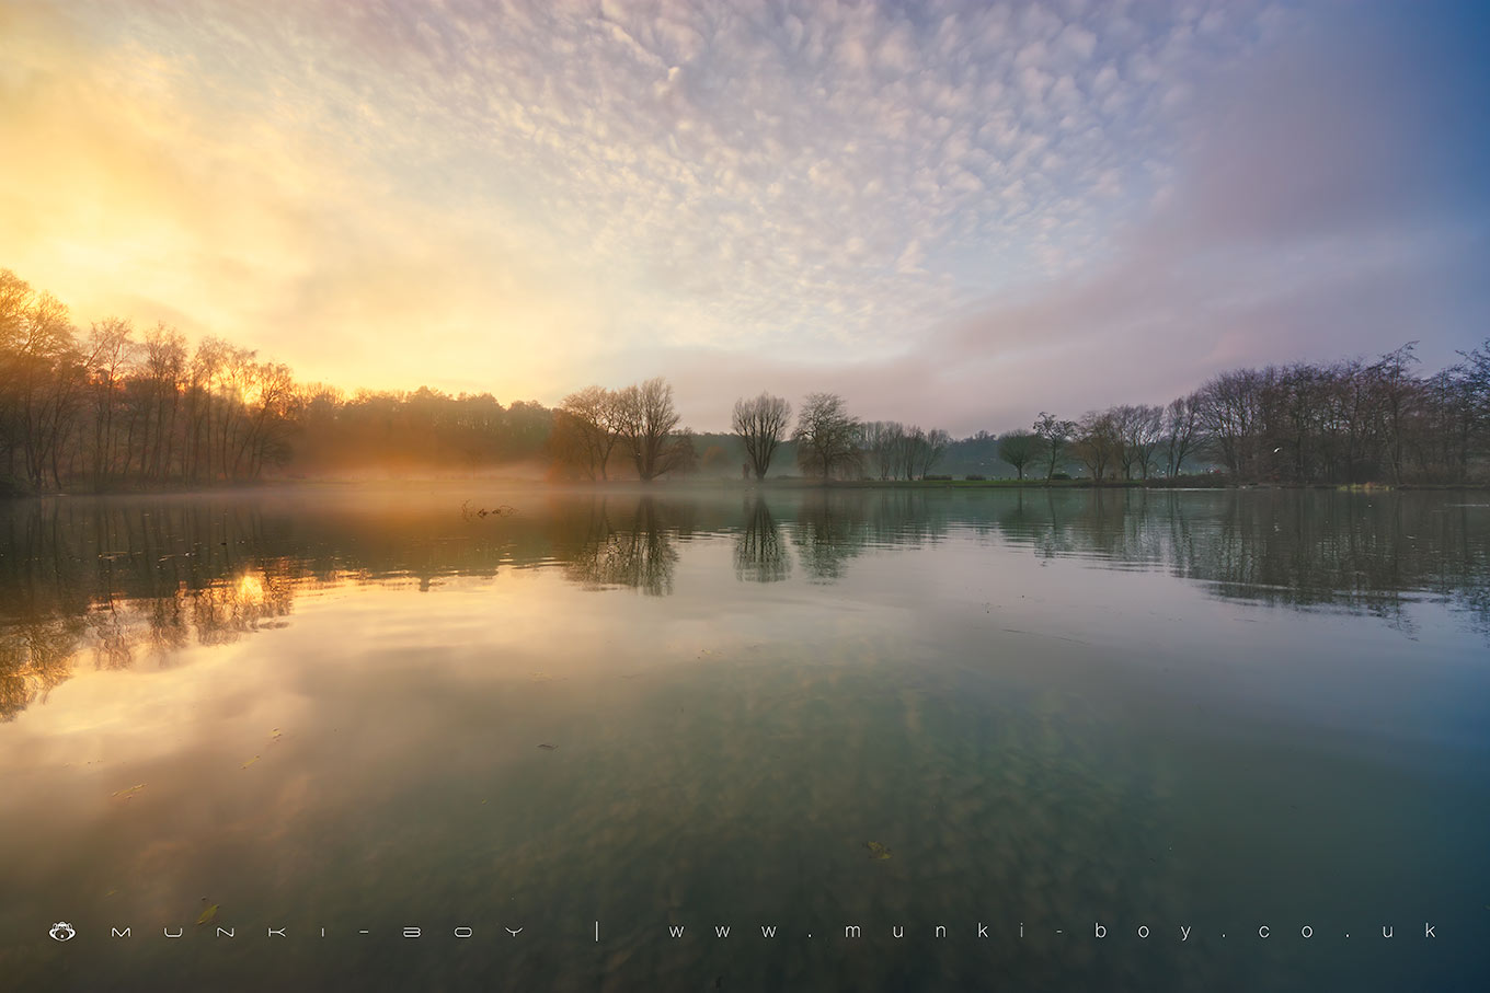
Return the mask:
<svg viewBox="0 0 1490 993">
<path fill-rule="evenodd" d="M 0 987 L 1484 989 L 1487 648 L 1486 493 L 0 503 Z"/>
</svg>

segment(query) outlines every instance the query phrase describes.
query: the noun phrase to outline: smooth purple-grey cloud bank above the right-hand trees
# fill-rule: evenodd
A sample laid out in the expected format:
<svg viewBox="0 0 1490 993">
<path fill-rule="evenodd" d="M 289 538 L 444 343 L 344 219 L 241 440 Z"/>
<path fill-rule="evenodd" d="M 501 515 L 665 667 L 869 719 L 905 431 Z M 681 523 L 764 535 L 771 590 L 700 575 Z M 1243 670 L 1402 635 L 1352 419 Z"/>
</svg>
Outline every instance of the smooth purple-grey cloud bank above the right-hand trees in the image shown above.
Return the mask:
<svg viewBox="0 0 1490 993">
<path fill-rule="evenodd" d="M 1165 400 L 1234 365 L 1411 339 L 1430 366 L 1451 362 L 1490 326 L 1475 275 L 1490 94 L 1466 68 L 1472 30 L 1402 27 L 1305 25 L 1205 80 L 1173 185 L 1100 262 L 986 301 L 933 348 L 958 368 L 1018 368 L 1040 384 L 1025 414 Z"/>
</svg>

